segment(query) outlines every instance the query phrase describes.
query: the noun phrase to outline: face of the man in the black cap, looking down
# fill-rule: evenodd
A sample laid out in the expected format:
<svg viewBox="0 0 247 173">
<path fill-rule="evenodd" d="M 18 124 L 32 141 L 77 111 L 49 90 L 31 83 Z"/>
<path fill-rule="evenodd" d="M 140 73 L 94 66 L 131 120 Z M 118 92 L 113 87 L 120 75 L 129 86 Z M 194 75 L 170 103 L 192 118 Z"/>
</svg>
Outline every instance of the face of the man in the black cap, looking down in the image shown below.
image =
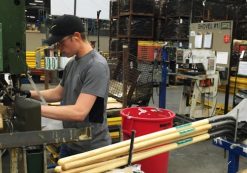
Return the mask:
<svg viewBox="0 0 247 173">
<path fill-rule="evenodd" d="M 77 54 L 77 46 L 73 35 L 64 37 L 57 45 L 62 56 L 72 57 Z"/>
</svg>

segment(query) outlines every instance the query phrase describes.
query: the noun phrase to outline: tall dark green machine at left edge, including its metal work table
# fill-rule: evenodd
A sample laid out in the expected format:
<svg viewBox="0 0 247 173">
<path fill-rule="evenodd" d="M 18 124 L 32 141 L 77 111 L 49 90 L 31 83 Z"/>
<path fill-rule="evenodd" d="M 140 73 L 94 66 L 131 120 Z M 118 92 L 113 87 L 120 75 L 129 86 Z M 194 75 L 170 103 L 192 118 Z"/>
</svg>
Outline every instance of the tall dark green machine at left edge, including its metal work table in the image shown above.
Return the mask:
<svg viewBox="0 0 247 173">
<path fill-rule="evenodd" d="M 20 96 L 20 76 L 27 74 L 24 3 L 0 5 L 0 172 L 44 173 L 46 145 L 90 140 L 91 132 L 89 127 L 42 131 L 40 102 Z"/>
</svg>

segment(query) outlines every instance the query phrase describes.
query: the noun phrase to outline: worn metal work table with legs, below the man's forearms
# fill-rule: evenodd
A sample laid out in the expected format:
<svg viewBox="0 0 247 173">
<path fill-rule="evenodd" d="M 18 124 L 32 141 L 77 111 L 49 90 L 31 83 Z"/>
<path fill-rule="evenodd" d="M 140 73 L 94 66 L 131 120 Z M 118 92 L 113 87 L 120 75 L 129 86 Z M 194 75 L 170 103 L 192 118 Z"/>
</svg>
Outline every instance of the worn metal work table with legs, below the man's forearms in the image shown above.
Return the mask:
<svg viewBox="0 0 247 173">
<path fill-rule="evenodd" d="M 0 155 L 2 155 L 5 149 L 9 149 L 10 172 L 27 173 L 29 172 L 27 163 L 28 155 L 30 155 L 29 151 L 31 151 L 33 147 L 41 146 L 39 153 L 43 153 L 43 165 L 40 165 L 39 168 L 35 168 L 36 170 L 33 170 L 33 172 L 40 169 L 38 170 L 39 172 L 47 173 L 46 145 L 71 141 L 87 141 L 91 140 L 91 136 L 90 127 L 84 127 L 82 129 L 68 128 L 61 130 L 2 133 L 0 134 Z M 37 153 L 33 153 L 33 155 L 37 155 Z M 35 158 L 37 158 L 37 156 Z M 3 172 L 1 157 L 0 172 Z"/>
</svg>

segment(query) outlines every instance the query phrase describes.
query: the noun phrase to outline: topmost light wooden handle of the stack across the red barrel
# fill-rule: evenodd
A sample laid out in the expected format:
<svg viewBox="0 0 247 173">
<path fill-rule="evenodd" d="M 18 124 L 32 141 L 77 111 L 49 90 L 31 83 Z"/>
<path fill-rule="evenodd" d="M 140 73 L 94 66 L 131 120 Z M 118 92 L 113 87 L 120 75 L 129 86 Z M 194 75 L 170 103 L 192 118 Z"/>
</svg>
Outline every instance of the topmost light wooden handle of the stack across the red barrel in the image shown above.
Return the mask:
<svg viewBox="0 0 247 173">
<path fill-rule="evenodd" d="M 145 135 L 145 136 L 137 137 L 137 138 L 135 138 L 135 142 L 134 143 L 136 144 L 136 143 L 139 143 L 139 142 L 142 142 L 142 141 L 146 141 L 146 140 L 149 140 L 149 139 L 152 139 L 152 138 L 156 138 L 156 137 L 164 136 L 164 135 L 167 135 L 167 134 L 171 134 L 171 133 L 177 132 L 178 130 L 188 129 L 188 128 L 191 128 L 191 127 L 197 127 L 197 126 L 205 125 L 205 124 L 208 124 L 208 123 L 209 123 L 208 119 L 204 119 L 204 120 L 200 120 L 200 121 L 196 121 L 196 122 L 192 122 L 192 123 L 187 123 L 185 125 L 181 125 L 181 126 L 169 128 L 169 129 L 166 129 L 166 130 L 154 132 L 154 133 L 151 133 L 151 134 L 148 134 L 148 135 Z M 112 150 L 115 150 L 117 148 L 121 148 L 121 147 L 124 147 L 124 146 L 129 146 L 129 144 L 130 144 L 130 140 L 126 140 L 126 141 L 119 142 L 119 143 L 116 143 L 116 144 L 113 144 L 113 145 L 109 145 L 109 146 L 106 146 L 106 147 L 102 147 L 102 148 L 99 148 L 99 149 L 96 149 L 96 150 L 92 150 L 92 151 L 88 151 L 88 152 L 85 152 L 85 153 L 80 153 L 80 154 L 76 154 L 76 155 L 73 155 L 73 156 L 65 157 L 65 158 L 59 159 L 58 160 L 58 164 L 60 166 L 62 166 L 66 162 L 85 159 L 87 157 L 92 157 L 92 156 L 98 155 L 100 153 L 112 151 Z"/>
</svg>

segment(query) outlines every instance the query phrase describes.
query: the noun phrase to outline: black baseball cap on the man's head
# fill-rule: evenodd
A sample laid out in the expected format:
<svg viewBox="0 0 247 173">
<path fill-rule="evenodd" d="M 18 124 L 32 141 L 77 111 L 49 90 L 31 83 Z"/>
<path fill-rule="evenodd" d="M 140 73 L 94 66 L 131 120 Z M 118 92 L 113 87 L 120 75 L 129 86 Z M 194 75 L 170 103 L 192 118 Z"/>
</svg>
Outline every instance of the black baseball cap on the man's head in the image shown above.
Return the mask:
<svg viewBox="0 0 247 173">
<path fill-rule="evenodd" d="M 73 15 L 60 16 L 52 21 L 50 27 L 51 36 L 45 40 L 44 43 L 52 45 L 75 32 L 84 32 L 84 26 L 81 19 Z"/>
</svg>

